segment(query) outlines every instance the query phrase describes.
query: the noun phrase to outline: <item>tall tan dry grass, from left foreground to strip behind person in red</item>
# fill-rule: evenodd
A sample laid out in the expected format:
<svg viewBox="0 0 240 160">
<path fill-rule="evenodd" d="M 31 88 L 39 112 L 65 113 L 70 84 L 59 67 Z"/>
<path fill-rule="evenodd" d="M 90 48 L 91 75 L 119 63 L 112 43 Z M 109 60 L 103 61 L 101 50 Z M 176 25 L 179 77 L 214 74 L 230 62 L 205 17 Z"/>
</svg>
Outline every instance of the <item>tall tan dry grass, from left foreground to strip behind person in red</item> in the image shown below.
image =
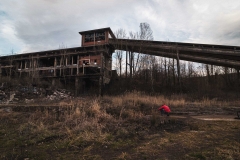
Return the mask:
<svg viewBox="0 0 240 160">
<path fill-rule="evenodd" d="M 116 132 L 119 126 L 128 120 L 141 123 L 150 115 L 151 121 L 156 121 L 157 109 L 162 104 L 173 108 L 184 108 L 189 104 L 201 107 L 228 105 L 228 102 L 208 98 L 189 102 L 185 95 L 151 96 L 137 91 L 120 96 L 78 98 L 59 102 L 59 108 L 51 111 L 32 113 L 27 118 L 27 124 L 19 127 L 19 133 L 32 133 L 32 136 L 41 134 L 45 137 L 65 135 L 72 140 L 72 145 L 80 139 L 96 140 L 98 137 L 99 140 L 104 140 L 109 137 L 110 132 Z"/>
</svg>

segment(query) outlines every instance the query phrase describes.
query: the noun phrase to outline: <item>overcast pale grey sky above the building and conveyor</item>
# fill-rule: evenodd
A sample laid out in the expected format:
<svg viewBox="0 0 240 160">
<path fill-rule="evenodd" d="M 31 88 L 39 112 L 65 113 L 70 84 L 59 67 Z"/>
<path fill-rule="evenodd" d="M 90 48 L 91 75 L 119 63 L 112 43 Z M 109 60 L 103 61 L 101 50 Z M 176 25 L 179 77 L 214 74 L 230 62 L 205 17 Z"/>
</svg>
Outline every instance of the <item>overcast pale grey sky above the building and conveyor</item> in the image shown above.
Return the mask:
<svg viewBox="0 0 240 160">
<path fill-rule="evenodd" d="M 142 22 L 158 41 L 240 46 L 240 0 L 0 0 L 0 55 L 77 47 L 80 31 Z"/>
</svg>

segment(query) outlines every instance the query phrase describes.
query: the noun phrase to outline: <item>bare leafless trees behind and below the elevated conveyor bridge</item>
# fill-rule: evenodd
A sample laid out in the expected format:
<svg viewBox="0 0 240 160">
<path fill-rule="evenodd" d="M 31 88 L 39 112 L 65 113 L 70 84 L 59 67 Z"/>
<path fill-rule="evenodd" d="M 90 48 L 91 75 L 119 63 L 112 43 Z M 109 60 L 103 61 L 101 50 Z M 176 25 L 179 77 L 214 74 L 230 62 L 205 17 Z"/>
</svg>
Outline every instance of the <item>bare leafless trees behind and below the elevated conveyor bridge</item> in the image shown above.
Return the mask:
<svg viewBox="0 0 240 160">
<path fill-rule="evenodd" d="M 138 32 L 118 29 L 118 39 L 153 40 L 153 31 L 148 23 L 140 23 Z M 141 50 L 141 48 L 139 48 Z M 121 93 L 140 90 L 149 93 L 239 93 L 239 69 L 181 61 L 142 54 L 140 52 L 116 50 L 113 67 L 117 78 L 112 85 Z M 108 90 L 109 92 L 109 90 Z"/>
</svg>

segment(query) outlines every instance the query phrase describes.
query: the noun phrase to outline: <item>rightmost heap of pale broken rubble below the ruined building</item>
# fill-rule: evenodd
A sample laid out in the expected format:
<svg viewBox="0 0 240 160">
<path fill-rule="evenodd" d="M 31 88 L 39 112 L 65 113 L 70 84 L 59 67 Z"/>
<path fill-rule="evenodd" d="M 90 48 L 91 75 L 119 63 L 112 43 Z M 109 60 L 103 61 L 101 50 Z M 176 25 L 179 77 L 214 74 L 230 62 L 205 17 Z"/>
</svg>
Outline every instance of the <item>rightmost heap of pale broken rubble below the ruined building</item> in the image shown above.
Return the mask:
<svg viewBox="0 0 240 160">
<path fill-rule="evenodd" d="M 55 90 L 53 92 L 53 94 L 48 95 L 46 97 L 46 100 L 48 100 L 48 101 L 55 101 L 55 100 L 71 99 L 71 98 L 72 98 L 72 96 L 71 96 L 70 92 L 68 92 L 68 91 L 66 91 L 64 89 L 62 89 L 62 90 L 58 89 L 58 90 Z"/>
</svg>

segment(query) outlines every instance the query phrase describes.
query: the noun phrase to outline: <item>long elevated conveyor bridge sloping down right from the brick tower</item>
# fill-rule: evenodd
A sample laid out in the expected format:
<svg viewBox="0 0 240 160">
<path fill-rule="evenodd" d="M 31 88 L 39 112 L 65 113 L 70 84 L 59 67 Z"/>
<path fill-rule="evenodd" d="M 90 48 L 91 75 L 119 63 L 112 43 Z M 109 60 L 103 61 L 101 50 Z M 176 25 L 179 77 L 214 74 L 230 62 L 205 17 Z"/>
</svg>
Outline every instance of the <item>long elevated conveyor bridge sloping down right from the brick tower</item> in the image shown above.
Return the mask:
<svg viewBox="0 0 240 160">
<path fill-rule="evenodd" d="M 117 50 L 240 69 L 240 46 L 110 39 Z"/>
</svg>

